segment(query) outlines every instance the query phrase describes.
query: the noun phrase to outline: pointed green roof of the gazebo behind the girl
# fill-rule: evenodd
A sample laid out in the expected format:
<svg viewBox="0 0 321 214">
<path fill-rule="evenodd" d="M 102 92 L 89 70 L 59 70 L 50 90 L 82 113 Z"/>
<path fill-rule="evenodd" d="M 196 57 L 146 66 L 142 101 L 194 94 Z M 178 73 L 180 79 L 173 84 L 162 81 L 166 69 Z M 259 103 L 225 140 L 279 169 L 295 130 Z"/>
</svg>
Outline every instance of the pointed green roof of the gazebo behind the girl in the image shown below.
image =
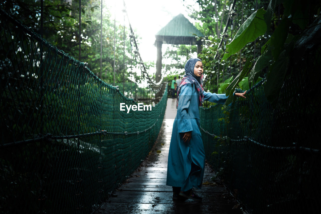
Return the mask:
<svg viewBox="0 0 321 214">
<path fill-rule="evenodd" d="M 155 35 L 156 41 L 167 44 L 195 45 L 195 37 L 204 37 L 201 31 L 188 21 L 183 14 L 175 16 L 168 24 Z"/>
</svg>

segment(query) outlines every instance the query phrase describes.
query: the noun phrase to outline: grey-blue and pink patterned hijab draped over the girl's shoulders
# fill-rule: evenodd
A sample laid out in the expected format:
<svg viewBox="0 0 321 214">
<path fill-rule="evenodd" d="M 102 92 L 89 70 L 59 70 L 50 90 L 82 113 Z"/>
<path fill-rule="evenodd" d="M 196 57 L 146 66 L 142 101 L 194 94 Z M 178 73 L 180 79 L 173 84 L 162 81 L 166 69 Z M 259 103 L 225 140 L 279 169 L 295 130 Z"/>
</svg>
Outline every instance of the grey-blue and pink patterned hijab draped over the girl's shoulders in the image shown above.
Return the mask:
<svg viewBox="0 0 321 214">
<path fill-rule="evenodd" d="M 203 102 L 204 102 L 204 89 L 202 88 L 203 86 L 203 74 L 201 77 L 196 77 L 194 75 L 194 66 L 196 64 L 197 61 L 201 61 L 199 58 L 190 58 L 189 60 L 187 60 L 186 64 L 185 64 L 185 75 L 183 76 L 183 79 L 181 81 L 181 83 L 178 86 L 177 89 L 177 102 L 176 102 L 176 108 L 178 107 L 178 99 L 179 99 L 179 93 L 181 90 L 181 87 L 187 83 L 191 83 L 194 84 L 196 89 L 197 89 L 197 93 L 198 93 L 198 100 L 199 100 L 199 106 L 202 106 Z"/>
</svg>

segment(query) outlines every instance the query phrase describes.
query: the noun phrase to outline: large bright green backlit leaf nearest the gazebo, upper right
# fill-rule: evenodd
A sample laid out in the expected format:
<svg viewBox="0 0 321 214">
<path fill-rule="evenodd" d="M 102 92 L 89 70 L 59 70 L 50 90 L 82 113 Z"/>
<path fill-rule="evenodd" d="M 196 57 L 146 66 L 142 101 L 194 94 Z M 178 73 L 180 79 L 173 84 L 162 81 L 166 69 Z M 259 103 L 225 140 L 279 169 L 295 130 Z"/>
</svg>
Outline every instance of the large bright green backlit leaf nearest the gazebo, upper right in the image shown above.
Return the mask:
<svg viewBox="0 0 321 214">
<path fill-rule="evenodd" d="M 226 45 L 227 53 L 224 54 L 222 60 L 229 58 L 241 50 L 247 43 L 253 42 L 257 37 L 266 32 L 266 23 L 263 15 L 265 14 L 264 8 L 260 8 L 242 24 L 233 40 Z"/>
</svg>

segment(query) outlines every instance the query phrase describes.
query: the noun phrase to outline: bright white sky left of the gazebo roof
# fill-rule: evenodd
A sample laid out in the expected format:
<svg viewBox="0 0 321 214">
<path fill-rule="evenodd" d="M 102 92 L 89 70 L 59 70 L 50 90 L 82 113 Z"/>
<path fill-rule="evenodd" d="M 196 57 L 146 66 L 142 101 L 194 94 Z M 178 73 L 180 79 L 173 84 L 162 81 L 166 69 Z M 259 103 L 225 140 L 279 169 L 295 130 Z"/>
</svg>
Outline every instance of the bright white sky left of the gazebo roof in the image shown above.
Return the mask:
<svg viewBox="0 0 321 214">
<path fill-rule="evenodd" d="M 191 0 L 188 0 L 191 2 Z M 107 0 L 113 5 L 116 12 L 116 20 L 124 22 L 122 13 L 122 0 Z M 143 61 L 154 61 L 156 63 L 155 34 L 164 27 L 173 17 L 182 13 L 187 19 L 188 13 L 183 6 L 183 0 L 125 0 L 127 14 L 135 35 L 142 38 L 139 45 L 139 52 Z M 198 5 L 197 5 L 198 6 Z M 128 20 L 126 17 L 126 26 Z"/>
</svg>

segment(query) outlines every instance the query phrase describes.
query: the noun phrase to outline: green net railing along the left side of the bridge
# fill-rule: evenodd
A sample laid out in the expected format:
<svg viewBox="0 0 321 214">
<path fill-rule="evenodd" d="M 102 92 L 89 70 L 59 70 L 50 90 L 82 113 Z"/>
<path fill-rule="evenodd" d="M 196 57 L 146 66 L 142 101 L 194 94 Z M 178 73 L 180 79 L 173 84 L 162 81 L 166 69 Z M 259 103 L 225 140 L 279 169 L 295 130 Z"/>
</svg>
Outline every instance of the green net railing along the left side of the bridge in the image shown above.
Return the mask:
<svg viewBox="0 0 321 214">
<path fill-rule="evenodd" d="M 91 213 L 139 166 L 167 90 L 137 105 L 87 66 L 1 12 L 1 213 Z"/>
</svg>

